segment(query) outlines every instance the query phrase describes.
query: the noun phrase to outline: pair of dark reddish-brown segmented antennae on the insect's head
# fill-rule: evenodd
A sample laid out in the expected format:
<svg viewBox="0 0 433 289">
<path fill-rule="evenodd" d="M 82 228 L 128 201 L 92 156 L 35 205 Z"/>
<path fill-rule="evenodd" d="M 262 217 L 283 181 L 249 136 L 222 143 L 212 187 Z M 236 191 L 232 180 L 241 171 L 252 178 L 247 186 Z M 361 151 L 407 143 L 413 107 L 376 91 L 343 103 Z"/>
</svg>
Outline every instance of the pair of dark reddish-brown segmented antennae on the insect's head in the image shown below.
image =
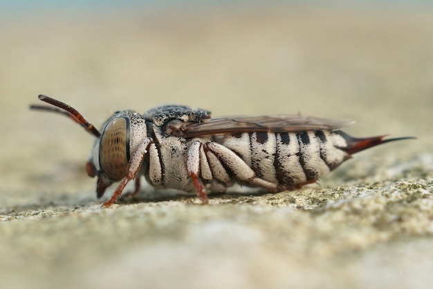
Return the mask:
<svg viewBox="0 0 433 289">
<path fill-rule="evenodd" d="M 67 105 L 66 103 L 62 103 L 62 101 L 56 100 L 54 98 L 50 98 L 49 96 L 44 96 L 40 94 L 37 98 L 39 100 L 44 101 L 45 103 L 49 103 L 53 106 L 48 105 L 30 105 L 30 110 L 45 110 L 47 112 L 56 112 L 58 114 L 63 114 L 64 116 L 68 116 L 69 119 L 75 121 L 75 123 L 80 124 L 86 132 L 93 134 L 95 137 L 100 137 L 101 134 L 99 130 L 97 130 L 93 124 L 88 123 L 84 116 L 77 112 L 75 108 Z"/>
</svg>

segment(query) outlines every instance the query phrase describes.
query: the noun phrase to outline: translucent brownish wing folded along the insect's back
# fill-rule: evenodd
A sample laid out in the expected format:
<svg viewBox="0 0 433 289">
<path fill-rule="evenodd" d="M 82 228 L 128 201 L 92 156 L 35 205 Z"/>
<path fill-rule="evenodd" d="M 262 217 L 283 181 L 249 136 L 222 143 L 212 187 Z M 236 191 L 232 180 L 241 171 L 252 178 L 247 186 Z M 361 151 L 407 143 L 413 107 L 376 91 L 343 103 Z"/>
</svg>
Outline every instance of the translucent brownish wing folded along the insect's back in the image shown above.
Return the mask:
<svg viewBox="0 0 433 289">
<path fill-rule="evenodd" d="M 183 123 L 177 132 L 181 137 L 201 137 L 213 134 L 242 132 L 303 132 L 306 130 L 336 130 L 353 121 L 320 119 L 311 116 L 232 116 L 205 119 L 200 123 Z"/>
</svg>

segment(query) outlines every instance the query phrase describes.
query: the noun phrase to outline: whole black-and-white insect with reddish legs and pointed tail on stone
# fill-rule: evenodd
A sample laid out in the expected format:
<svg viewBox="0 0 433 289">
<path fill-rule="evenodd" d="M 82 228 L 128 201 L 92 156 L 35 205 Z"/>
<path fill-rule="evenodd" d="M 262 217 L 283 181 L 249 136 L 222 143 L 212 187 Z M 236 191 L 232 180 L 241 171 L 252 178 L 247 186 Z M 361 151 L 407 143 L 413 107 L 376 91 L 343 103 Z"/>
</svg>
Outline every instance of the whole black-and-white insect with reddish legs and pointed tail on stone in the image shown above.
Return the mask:
<svg viewBox="0 0 433 289">
<path fill-rule="evenodd" d="M 51 106 L 30 109 L 64 114 L 95 137 L 86 171 L 98 177 L 97 197 L 120 182 L 106 207 L 117 202 L 132 179 L 132 194 L 138 193 L 142 175 L 156 189 L 195 191 L 203 204 L 209 202 L 207 191 L 223 193 L 234 183 L 292 191 L 316 182 L 356 152 L 413 139 L 358 139 L 340 130 L 347 121 L 300 115 L 212 119 L 208 110 L 183 105 L 155 107 L 145 114 L 118 111 L 100 132 L 66 103 L 43 95 L 39 100 Z"/>
</svg>

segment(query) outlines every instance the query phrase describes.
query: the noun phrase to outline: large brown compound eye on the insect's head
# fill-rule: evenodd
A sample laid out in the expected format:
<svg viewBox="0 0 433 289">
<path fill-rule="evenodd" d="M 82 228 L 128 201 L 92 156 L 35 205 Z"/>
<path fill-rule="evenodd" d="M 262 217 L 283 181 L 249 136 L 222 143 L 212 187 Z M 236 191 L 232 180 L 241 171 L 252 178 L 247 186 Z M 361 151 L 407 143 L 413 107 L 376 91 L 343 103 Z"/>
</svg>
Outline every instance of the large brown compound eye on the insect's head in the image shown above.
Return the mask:
<svg viewBox="0 0 433 289">
<path fill-rule="evenodd" d="M 113 181 L 125 177 L 129 161 L 129 119 L 113 119 L 102 132 L 99 162 L 102 172 Z"/>
</svg>

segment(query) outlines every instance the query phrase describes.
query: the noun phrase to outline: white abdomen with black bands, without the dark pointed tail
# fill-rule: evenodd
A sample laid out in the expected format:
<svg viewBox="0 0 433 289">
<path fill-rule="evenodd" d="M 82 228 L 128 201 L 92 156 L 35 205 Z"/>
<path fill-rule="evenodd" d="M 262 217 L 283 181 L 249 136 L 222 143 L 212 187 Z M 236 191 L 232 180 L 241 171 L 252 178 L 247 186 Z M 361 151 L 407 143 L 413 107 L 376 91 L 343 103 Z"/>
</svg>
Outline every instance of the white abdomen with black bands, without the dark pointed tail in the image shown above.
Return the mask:
<svg viewBox="0 0 433 289">
<path fill-rule="evenodd" d="M 257 177 L 275 184 L 314 182 L 350 155 L 340 131 L 244 132 L 219 141 L 236 152 Z"/>
</svg>

